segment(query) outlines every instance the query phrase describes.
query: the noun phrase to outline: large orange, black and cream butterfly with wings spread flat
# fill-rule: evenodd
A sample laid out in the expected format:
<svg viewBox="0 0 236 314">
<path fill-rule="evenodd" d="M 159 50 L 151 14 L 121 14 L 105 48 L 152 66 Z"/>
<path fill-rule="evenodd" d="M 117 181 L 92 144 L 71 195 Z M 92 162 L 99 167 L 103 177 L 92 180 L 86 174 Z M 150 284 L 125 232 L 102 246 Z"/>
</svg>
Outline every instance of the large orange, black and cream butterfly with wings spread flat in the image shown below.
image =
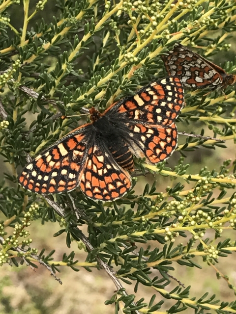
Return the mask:
<svg viewBox="0 0 236 314">
<path fill-rule="evenodd" d="M 111 105 L 89 109 L 91 123 L 60 138 L 23 169 L 19 183 L 39 194 L 80 185 L 89 198 L 116 200 L 132 186 L 133 155 L 156 164 L 177 146 L 175 119 L 184 105 L 179 78 L 163 78 Z"/>
</svg>

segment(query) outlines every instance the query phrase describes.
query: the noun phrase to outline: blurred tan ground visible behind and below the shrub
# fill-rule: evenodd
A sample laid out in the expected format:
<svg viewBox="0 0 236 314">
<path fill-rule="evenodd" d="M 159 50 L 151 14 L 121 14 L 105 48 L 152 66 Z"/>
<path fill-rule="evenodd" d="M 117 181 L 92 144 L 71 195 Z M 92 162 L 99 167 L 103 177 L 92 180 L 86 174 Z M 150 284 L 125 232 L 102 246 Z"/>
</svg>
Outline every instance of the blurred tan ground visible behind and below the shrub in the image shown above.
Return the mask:
<svg viewBox="0 0 236 314">
<path fill-rule="evenodd" d="M 32 1 L 35 3 L 36 1 Z M 37 19 L 40 15 L 44 17 L 46 21 L 50 21 L 52 16 L 58 15 L 57 8 L 54 5 L 54 1 L 49 1 L 44 11 L 39 12 Z M 45 16 L 47 12 L 47 16 Z M 12 6 L 11 16 L 14 16 L 13 26 L 17 29 L 22 26 L 22 5 L 21 8 L 17 5 Z M 34 20 L 35 22 L 35 20 Z M 235 38 L 235 37 L 234 37 Z M 232 49 L 230 52 L 218 53 L 214 61 L 216 64 L 223 64 L 224 60 L 233 60 L 236 55 L 236 45 L 233 38 L 228 42 L 232 43 Z M 89 52 L 90 53 L 90 52 Z M 86 63 L 85 59 L 81 60 Z M 86 66 L 86 64 L 85 64 Z M 29 116 L 29 120 L 32 117 Z M 29 122 L 30 123 L 30 122 Z M 193 123 L 194 131 L 196 133 L 201 131 L 200 123 Z M 193 126 L 191 124 L 191 127 Z M 191 131 L 179 130 L 179 131 Z M 182 143 L 184 139 L 179 138 L 179 143 Z M 210 169 L 218 168 L 222 164 L 223 160 L 232 158 L 235 159 L 236 149 L 233 142 L 227 143 L 227 149 L 217 148 L 216 150 L 207 150 L 200 148 L 195 152 L 187 153 L 188 158 L 186 163 L 191 163 L 190 173 L 198 173 L 199 170 L 207 165 Z M 169 164 L 174 166 L 177 163 L 177 159 L 180 154 L 176 152 L 169 160 Z M 10 168 L 5 163 L 2 163 L 0 158 L 0 177 L 3 172 L 10 173 Z M 157 190 L 163 191 L 163 187 L 168 185 L 169 178 L 156 177 Z M 153 176 L 149 175 L 148 178 L 139 177 L 138 184 L 136 186 L 137 192 L 143 191 L 144 184 L 153 183 Z M 4 220 L 4 216 L 0 214 L 0 220 Z M 29 227 L 30 235 L 34 241 L 32 247 L 41 249 L 46 248 L 45 254 L 48 254 L 51 250 L 56 248 L 54 255 L 56 261 L 61 261 L 64 252 L 69 254 L 72 250 L 76 251 L 76 258 L 79 262 L 83 262 L 86 258 L 86 253 L 83 250 L 78 250 L 76 243 L 72 243 L 71 249 L 68 249 L 65 242 L 64 234 L 53 237 L 53 235 L 60 229 L 58 223 L 47 223 L 41 225 L 39 222 L 33 222 Z M 86 229 L 84 229 L 86 232 Z M 235 234 L 235 231 L 234 231 Z M 231 232 L 228 233 L 229 237 L 232 237 Z M 206 234 L 207 237 L 207 234 Z M 227 237 L 224 233 L 222 240 Z M 181 238 L 179 241 L 185 243 L 186 239 Z M 154 243 L 156 245 L 156 243 Z M 216 279 L 216 273 L 213 268 L 207 266 L 202 262 L 202 258 L 195 258 L 195 261 L 203 266 L 203 269 L 182 267 L 178 264 L 174 264 L 176 268 L 171 275 L 177 277 L 185 287 L 192 285 L 191 297 L 201 297 L 205 292 L 209 292 L 209 295 L 215 293 L 217 298 L 224 300 L 225 302 L 232 302 L 235 300 L 234 291 L 228 288 L 226 281 L 223 279 Z M 227 262 L 226 262 L 227 261 Z M 236 263 L 235 253 L 224 260 L 219 259 L 217 265 L 222 273 L 227 274 L 233 285 L 236 286 Z M 0 269 L 0 314 L 113 314 L 113 306 L 105 306 L 104 301 L 110 299 L 116 289 L 110 278 L 106 273 L 92 269 L 92 272 L 88 272 L 84 268 L 80 268 L 79 272 L 73 271 L 68 267 L 60 267 L 61 273 L 57 276 L 61 279 L 62 285 L 50 276 L 49 271 L 40 266 L 34 272 L 25 265 L 16 267 L 10 267 L 5 264 Z M 158 271 L 155 275 L 158 276 Z M 133 286 L 123 284 L 127 288 L 129 294 L 133 293 Z M 177 283 L 172 281 L 171 287 L 168 286 L 168 290 L 176 287 Z M 145 297 L 149 302 L 150 297 L 155 291 L 151 288 L 139 286 L 138 297 Z M 162 297 L 156 294 L 155 302 L 161 300 Z M 165 308 L 173 305 L 173 300 L 166 300 Z M 164 309 L 163 309 L 164 311 Z M 193 313 L 192 310 L 191 313 Z M 190 313 L 190 312 L 189 312 Z M 211 312 L 209 312 L 211 313 Z"/>
</svg>

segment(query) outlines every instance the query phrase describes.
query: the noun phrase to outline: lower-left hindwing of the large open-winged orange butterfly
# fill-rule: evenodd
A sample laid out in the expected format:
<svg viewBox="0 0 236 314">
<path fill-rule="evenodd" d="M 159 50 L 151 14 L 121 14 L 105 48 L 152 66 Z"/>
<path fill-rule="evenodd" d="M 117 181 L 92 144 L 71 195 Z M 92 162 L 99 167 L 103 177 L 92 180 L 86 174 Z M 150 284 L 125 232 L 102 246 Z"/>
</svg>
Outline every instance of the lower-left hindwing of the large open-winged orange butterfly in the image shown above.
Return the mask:
<svg viewBox="0 0 236 314">
<path fill-rule="evenodd" d="M 116 200 L 131 188 L 127 171 L 121 168 L 103 144 L 89 149 L 80 188 L 89 198 L 100 201 Z"/>
</svg>

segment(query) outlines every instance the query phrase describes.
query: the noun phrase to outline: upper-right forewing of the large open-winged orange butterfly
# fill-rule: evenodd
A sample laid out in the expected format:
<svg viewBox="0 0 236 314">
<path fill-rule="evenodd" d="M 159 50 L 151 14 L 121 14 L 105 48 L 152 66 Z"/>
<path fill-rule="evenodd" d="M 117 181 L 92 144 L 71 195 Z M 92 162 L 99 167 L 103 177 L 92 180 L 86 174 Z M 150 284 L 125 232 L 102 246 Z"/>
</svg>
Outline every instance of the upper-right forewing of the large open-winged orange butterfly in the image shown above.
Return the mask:
<svg viewBox="0 0 236 314">
<path fill-rule="evenodd" d="M 179 78 L 163 78 L 121 99 L 105 114 L 119 114 L 131 122 L 151 125 L 170 125 L 184 106 L 183 88 Z"/>
</svg>

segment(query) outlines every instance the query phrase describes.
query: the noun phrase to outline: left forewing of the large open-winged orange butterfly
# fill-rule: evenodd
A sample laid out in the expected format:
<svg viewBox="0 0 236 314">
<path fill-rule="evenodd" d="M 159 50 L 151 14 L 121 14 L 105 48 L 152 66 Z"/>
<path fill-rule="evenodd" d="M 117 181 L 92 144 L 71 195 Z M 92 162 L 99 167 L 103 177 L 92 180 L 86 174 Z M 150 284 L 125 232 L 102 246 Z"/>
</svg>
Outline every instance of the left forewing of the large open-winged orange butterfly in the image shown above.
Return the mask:
<svg viewBox="0 0 236 314">
<path fill-rule="evenodd" d="M 38 194 L 75 189 L 84 170 L 91 134 L 92 125 L 87 124 L 60 138 L 25 166 L 19 183 Z"/>
</svg>

